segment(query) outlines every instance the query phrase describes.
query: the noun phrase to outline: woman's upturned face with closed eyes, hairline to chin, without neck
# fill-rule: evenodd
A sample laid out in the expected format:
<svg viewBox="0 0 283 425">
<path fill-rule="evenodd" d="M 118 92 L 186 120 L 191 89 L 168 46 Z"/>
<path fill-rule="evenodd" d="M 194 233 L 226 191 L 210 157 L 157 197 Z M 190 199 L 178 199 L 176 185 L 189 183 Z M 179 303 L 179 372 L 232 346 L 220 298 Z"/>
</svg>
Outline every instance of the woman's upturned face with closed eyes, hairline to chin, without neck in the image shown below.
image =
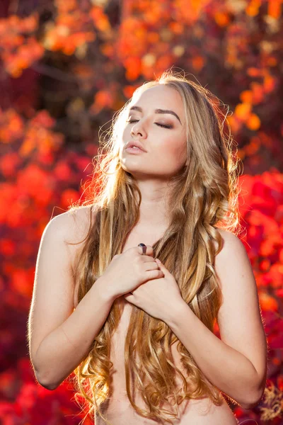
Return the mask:
<svg viewBox="0 0 283 425">
<path fill-rule="evenodd" d="M 185 112 L 178 91 L 164 84 L 151 87 L 132 99 L 128 111 L 120 147 L 122 168 L 139 179 L 178 174 L 187 159 Z M 130 142 L 139 142 L 146 152 L 127 151 Z"/>
</svg>

